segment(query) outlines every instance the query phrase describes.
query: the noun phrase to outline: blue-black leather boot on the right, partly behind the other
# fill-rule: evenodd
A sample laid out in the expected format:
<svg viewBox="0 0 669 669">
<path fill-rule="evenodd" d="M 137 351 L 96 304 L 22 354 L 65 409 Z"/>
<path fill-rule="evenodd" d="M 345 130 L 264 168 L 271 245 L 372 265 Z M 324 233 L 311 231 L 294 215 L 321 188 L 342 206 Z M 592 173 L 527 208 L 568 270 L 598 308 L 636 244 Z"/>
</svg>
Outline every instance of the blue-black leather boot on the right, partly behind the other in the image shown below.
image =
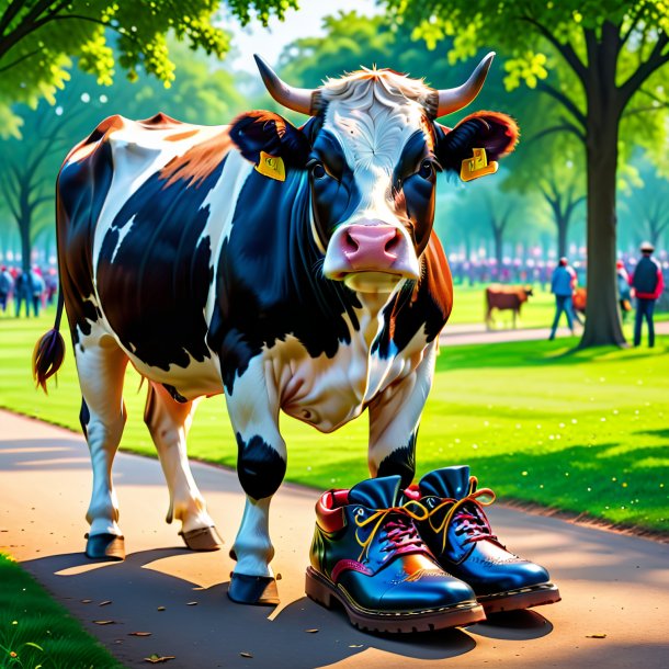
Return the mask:
<svg viewBox="0 0 669 669">
<path fill-rule="evenodd" d="M 429 510 L 417 526 L 441 567 L 472 586 L 486 614 L 558 602 L 546 569 L 510 553 L 492 534 L 484 506 L 495 492 L 476 485 L 465 465 L 435 469 L 405 491 Z"/>
</svg>

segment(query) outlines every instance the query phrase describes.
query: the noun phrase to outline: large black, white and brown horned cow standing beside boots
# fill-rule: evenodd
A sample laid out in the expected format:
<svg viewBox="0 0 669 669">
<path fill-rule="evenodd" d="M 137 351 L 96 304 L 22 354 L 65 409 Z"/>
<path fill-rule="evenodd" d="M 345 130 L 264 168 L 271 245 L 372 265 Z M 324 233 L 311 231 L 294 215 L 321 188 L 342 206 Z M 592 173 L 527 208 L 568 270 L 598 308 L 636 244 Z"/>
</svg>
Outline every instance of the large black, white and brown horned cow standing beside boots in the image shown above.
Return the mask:
<svg viewBox="0 0 669 669">
<path fill-rule="evenodd" d="M 436 175 L 489 173 L 518 140 L 502 113 L 452 129 L 435 118 L 474 100 L 492 56 L 446 90 L 389 69 L 298 89 L 257 57 L 274 99 L 308 116 L 303 126 L 267 111 L 216 127 L 112 116 L 70 151 L 57 183 L 63 291 L 34 372 L 45 387 L 61 362 L 65 304 L 93 468 L 89 556 L 124 556 L 111 472 L 128 362 L 149 382 L 168 522 L 182 522 L 192 548 L 220 542 L 186 433 L 199 399 L 225 395 L 247 495 L 234 601 L 277 602 L 269 509 L 286 469 L 280 411 L 331 432 L 366 409 L 372 475 L 410 484 L 453 301 L 432 234 Z"/>
</svg>

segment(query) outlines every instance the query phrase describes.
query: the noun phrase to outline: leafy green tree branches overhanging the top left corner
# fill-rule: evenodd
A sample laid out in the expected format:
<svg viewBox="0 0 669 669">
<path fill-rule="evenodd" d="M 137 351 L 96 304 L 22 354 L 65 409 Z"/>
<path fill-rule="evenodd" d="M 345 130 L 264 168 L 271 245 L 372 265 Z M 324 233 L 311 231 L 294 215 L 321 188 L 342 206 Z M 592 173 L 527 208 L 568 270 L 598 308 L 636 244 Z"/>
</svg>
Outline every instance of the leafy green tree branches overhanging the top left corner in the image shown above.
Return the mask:
<svg viewBox="0 0 669 669">
<path fill-rule="evenodd" d="M 284 19 L 297 0 L 226 0 L 242 24 L 253 18 L 267 25 Z M 21 118 L 11 105 L 33 109 L 65 87 L 77 58 L 79 67 L 111 84 L 115 66 L 131 79 L 154 75 L 169 86 L 174 80 L 168 35 L 202 47 L 218 58 L 229 49 L 229 36 L 213 25 L 217 0 L 3 0 L 0 3 L 0 134 L 19 137 Z"/>
</svg>

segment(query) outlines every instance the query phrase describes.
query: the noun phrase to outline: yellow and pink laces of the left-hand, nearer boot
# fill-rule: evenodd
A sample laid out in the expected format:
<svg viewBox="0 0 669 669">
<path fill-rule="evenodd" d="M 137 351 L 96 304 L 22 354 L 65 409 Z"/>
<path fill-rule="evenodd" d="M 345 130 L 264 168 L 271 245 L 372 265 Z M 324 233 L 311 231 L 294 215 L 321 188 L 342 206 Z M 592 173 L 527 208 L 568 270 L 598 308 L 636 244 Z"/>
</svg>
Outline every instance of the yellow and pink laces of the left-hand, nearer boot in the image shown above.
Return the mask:
<svg viewBox="0 0 669 669">
<path fill-rule="evenodd" d="M 412 511 L 410 507 L 416 507 L 418 511 Z M 367 518 L 355 517 L 355 524 L 359 530 L 355 530 L 355 541 L 362 547 L 358 562 L 361 562 L 370 552 L 370 545 L 374 541 L 379 528 L 384 528 L 385 537 L 388 544 L 382 548 L 383 552 L 395 551 L 408 546 L 424 545 L 420 534 L 413 524 L 415 520 L 422 521 L 428 519 L 430 512 L 428 509 L 415 499 L 410 499 L 401 507 L 389 507 L 388 509 L 378 509 Z M 373 525 L 371 532 L 363 541 L 360 537 L 359 531 L 367 525 Z"/>
</svg>

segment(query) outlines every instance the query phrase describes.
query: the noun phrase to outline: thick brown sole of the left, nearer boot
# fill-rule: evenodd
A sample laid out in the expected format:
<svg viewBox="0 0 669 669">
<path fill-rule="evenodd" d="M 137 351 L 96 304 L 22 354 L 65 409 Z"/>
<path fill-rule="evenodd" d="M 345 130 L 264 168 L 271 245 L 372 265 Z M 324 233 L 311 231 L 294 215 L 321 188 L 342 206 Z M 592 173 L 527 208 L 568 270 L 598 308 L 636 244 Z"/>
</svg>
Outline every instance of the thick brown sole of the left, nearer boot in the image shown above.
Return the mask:
<svg viewBox="0 0 669 669">
<path fill-rule="evenodd" d="M 307 567 L 305 591 L 309 599 L 326 609 L 332 609 L 336 602 L 341 604 L 351 623 L 365 632 L 390 634 L 433 632 L 446 627 L 472 625 L 486 620 L 484 608 L 474 600 L 426 611 L 398 611 L 396 613 L 368 611 L 358 606 L 342 589 L 311 567 Z"/>
</svg>

